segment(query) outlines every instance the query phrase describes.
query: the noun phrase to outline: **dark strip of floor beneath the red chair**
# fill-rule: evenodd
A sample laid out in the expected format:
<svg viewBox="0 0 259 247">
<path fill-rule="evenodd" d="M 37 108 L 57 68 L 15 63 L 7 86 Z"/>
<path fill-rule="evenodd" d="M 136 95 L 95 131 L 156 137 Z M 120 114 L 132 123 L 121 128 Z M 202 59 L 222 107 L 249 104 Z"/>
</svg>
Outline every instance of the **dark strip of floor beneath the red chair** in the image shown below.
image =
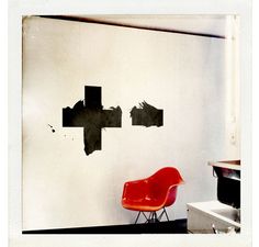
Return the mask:
<svg viewBox="0 0 259 247">
<path fill-rule="evenodd" d="M 23 231 L 23 234 L 187 234 L 187 218 L 149 224 Z"/>
</svg>

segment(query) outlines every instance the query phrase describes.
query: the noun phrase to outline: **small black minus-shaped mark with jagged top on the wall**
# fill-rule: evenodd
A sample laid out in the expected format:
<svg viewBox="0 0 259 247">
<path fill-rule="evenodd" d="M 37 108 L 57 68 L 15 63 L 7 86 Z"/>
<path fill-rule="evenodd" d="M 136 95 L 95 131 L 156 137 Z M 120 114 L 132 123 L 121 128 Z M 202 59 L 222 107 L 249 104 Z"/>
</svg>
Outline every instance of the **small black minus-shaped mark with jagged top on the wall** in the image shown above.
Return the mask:
<svg viewBox="0 0 259 247">
<path fill-rule="evenodd" d="M 139 106 L 134 106 L 131 111 L 132 125 L 162 126 L 162 110 L 158 110 L 145 101 L 139 103 Z"/>
</svg>

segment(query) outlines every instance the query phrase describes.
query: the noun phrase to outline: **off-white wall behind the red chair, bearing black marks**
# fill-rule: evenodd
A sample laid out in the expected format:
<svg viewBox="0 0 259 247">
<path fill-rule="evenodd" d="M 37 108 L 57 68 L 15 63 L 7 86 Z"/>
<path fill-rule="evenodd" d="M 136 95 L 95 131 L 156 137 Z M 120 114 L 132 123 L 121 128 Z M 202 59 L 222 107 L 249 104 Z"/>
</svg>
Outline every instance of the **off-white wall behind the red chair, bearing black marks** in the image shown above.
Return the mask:
<svg viewBox="0 0 259 247">
<path fill-rule="evenodd" d="M 239 158 L 237 147 L 226 153 L 225 40 L 41 18 L 26 19 L 23 35 L 24 229 L 128 224 L 136 213 L 121 206 L 123 183 L 164 166 L 185 180 L 171 218 L 215 199 L 207 161 Z M 85 86 L 123 111 L 122 128 L 103 130 L 90 156 L 82 128 L 61 126 Z M 144 100 L 164 109 L 164 126 L 131 125 Z"/>
</svg>

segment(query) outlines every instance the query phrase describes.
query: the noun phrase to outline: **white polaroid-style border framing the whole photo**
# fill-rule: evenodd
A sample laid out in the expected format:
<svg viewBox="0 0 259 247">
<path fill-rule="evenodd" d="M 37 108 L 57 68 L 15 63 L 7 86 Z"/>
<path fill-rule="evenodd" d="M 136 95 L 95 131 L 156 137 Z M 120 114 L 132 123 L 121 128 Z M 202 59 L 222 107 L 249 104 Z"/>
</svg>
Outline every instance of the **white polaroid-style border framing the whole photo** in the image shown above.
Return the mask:
<svg viewBox="0 0 259 247">
<path fill-rule="evenodd" d="M 9 4 L 9 211 L 10 246 L 250 246 L 251 244 L 251 3 L 250 1 L 150 1 L 147 5 L 133 2 L 101 3 L 64 1 L 10 1 Z M 240 19 L 240 143 L 241 143 L 241 209 L 240 235 L 22 235 L 22 16 L 36 14 L 237 14 Z"/>
</svg>

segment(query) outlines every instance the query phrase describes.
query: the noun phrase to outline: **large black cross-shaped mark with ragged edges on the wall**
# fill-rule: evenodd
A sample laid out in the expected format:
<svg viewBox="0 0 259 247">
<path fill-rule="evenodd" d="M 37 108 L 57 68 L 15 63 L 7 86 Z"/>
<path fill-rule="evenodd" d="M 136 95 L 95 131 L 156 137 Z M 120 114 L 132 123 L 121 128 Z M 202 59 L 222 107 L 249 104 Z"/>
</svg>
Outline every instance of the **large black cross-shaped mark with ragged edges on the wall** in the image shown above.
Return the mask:
<svg viewBox="0 0 259 247">
<path fill-rule="evenodd" d="M 101 87 L 85 86 L 85 103 L 78 101 L 72 109 L 63 109 L 64 127 L 83 127 L 85 153 L 101 150 L 102 128 L 121 127 L 120 106 L 103 110 Z"/>
</svg>

